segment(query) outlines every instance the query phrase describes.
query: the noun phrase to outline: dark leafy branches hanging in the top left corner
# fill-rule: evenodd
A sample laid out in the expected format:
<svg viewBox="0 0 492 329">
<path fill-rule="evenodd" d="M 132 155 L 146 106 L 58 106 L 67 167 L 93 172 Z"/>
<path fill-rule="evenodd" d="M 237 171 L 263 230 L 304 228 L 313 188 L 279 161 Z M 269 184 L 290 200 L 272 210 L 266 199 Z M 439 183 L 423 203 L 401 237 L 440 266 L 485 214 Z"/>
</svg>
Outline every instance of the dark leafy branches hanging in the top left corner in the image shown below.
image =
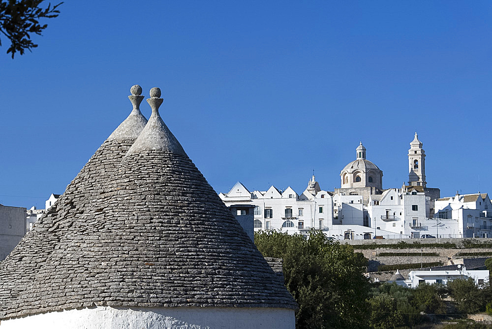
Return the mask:
<svg viewBox="0 0 492 329">
<path fill-rule="evenodd" d="M 39 19 L 54 18 L 60 14 L 57 9 L 63 2 L 55 6 L 48 3 L 47 7 L 40 7 L 43 0 L 0 0 L 0 33 L 10 40 L 7 54 L 16 52 L 23 55 L 27 49 L 37 47 L 31 40 L 31 34 L 41 35 L 48 27 L 47 24 L 40 25 Z M 1 39 L 0 39 L 1 46 Z"/>
</svg>

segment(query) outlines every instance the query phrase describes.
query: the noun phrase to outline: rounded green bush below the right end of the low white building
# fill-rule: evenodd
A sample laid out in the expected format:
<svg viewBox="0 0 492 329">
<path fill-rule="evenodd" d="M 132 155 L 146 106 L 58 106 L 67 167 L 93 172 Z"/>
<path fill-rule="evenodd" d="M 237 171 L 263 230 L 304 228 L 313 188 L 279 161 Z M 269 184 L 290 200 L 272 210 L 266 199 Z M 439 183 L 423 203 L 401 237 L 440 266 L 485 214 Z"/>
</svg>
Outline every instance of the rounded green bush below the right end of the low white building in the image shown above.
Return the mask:
<svg viewBox="0 0 492 329">
<path fill-rule="evenodd" d="M 484 300 L 484 292 L 479 289 L 472 278 L 448 281 L 449 294 L 456 301 L 458 311 L 476 313 L 482 310 L 488 300 Z"/>
</svg>

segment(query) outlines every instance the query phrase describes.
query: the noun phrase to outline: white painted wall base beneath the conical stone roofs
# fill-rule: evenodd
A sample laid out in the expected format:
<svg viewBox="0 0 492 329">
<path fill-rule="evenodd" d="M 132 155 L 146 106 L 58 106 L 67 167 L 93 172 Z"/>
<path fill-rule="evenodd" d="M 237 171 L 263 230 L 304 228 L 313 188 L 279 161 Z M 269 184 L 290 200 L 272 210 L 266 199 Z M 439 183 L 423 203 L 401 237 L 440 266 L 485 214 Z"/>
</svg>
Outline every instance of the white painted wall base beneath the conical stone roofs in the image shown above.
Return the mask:
<svg viewBox="0 0 492 329">
<path fill-rule="evenodd" d="M 284 308 L 109 307 L 64 310 L 1 321 L 0 329 L 294 329 Z"/>
</svg>

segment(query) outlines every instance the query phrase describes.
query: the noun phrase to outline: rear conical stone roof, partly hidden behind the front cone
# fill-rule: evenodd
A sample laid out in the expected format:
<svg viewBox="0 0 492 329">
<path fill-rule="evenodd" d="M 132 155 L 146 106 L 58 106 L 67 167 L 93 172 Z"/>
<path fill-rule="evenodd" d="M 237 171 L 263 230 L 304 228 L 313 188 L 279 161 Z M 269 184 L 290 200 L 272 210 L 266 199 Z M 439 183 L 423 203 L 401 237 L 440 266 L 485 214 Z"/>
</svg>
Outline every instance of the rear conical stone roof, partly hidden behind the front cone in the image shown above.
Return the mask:
<svg viewBox="0 0 492 329">
<path fill-rule="evenodd" d="M 147 119 L 139 109 L 142 88 L 135 85 L 128 96 L 133 104 L 130 115 L 97 149 L 89 162 L 67 186 L 65 193 L 36 221 L 31 232 L 19 242 L 0 264 L 0 315 L 25 297 L 36 274 L 46 265 L 53 251 L 73 224 L 100 197 L 123 156 L 129 150 Z M 50 288 L 48 288 L 49 290 Z"/>
</svg>

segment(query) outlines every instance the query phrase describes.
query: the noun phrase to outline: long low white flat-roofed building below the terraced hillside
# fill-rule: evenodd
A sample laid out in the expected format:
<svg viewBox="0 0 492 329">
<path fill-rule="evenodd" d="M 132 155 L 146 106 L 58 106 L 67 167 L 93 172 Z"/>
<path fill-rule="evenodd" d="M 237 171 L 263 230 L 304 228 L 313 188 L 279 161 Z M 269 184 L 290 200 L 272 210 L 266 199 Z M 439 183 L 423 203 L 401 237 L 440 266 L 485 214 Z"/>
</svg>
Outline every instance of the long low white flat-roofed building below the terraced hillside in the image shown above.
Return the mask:
<svg viewBox="0 0 492 329">
<path fill-rule="evenodd" d="M 460 265 L 459 265 L 460 266 Z M 466 267 L 461 267 L 460 269 L 454 270 L 417 270 L 408 273 L 407 280 L 394 281 L 397 284 L 408 287 L 415 288 L 421 283 L 442 283 L 447 284 L 448 281 L 455 279 L 466 279 L 473 278 L 475 284 L 482 286 L 489 282 L 489 270 L 466 270 Z"/>
</svg>

